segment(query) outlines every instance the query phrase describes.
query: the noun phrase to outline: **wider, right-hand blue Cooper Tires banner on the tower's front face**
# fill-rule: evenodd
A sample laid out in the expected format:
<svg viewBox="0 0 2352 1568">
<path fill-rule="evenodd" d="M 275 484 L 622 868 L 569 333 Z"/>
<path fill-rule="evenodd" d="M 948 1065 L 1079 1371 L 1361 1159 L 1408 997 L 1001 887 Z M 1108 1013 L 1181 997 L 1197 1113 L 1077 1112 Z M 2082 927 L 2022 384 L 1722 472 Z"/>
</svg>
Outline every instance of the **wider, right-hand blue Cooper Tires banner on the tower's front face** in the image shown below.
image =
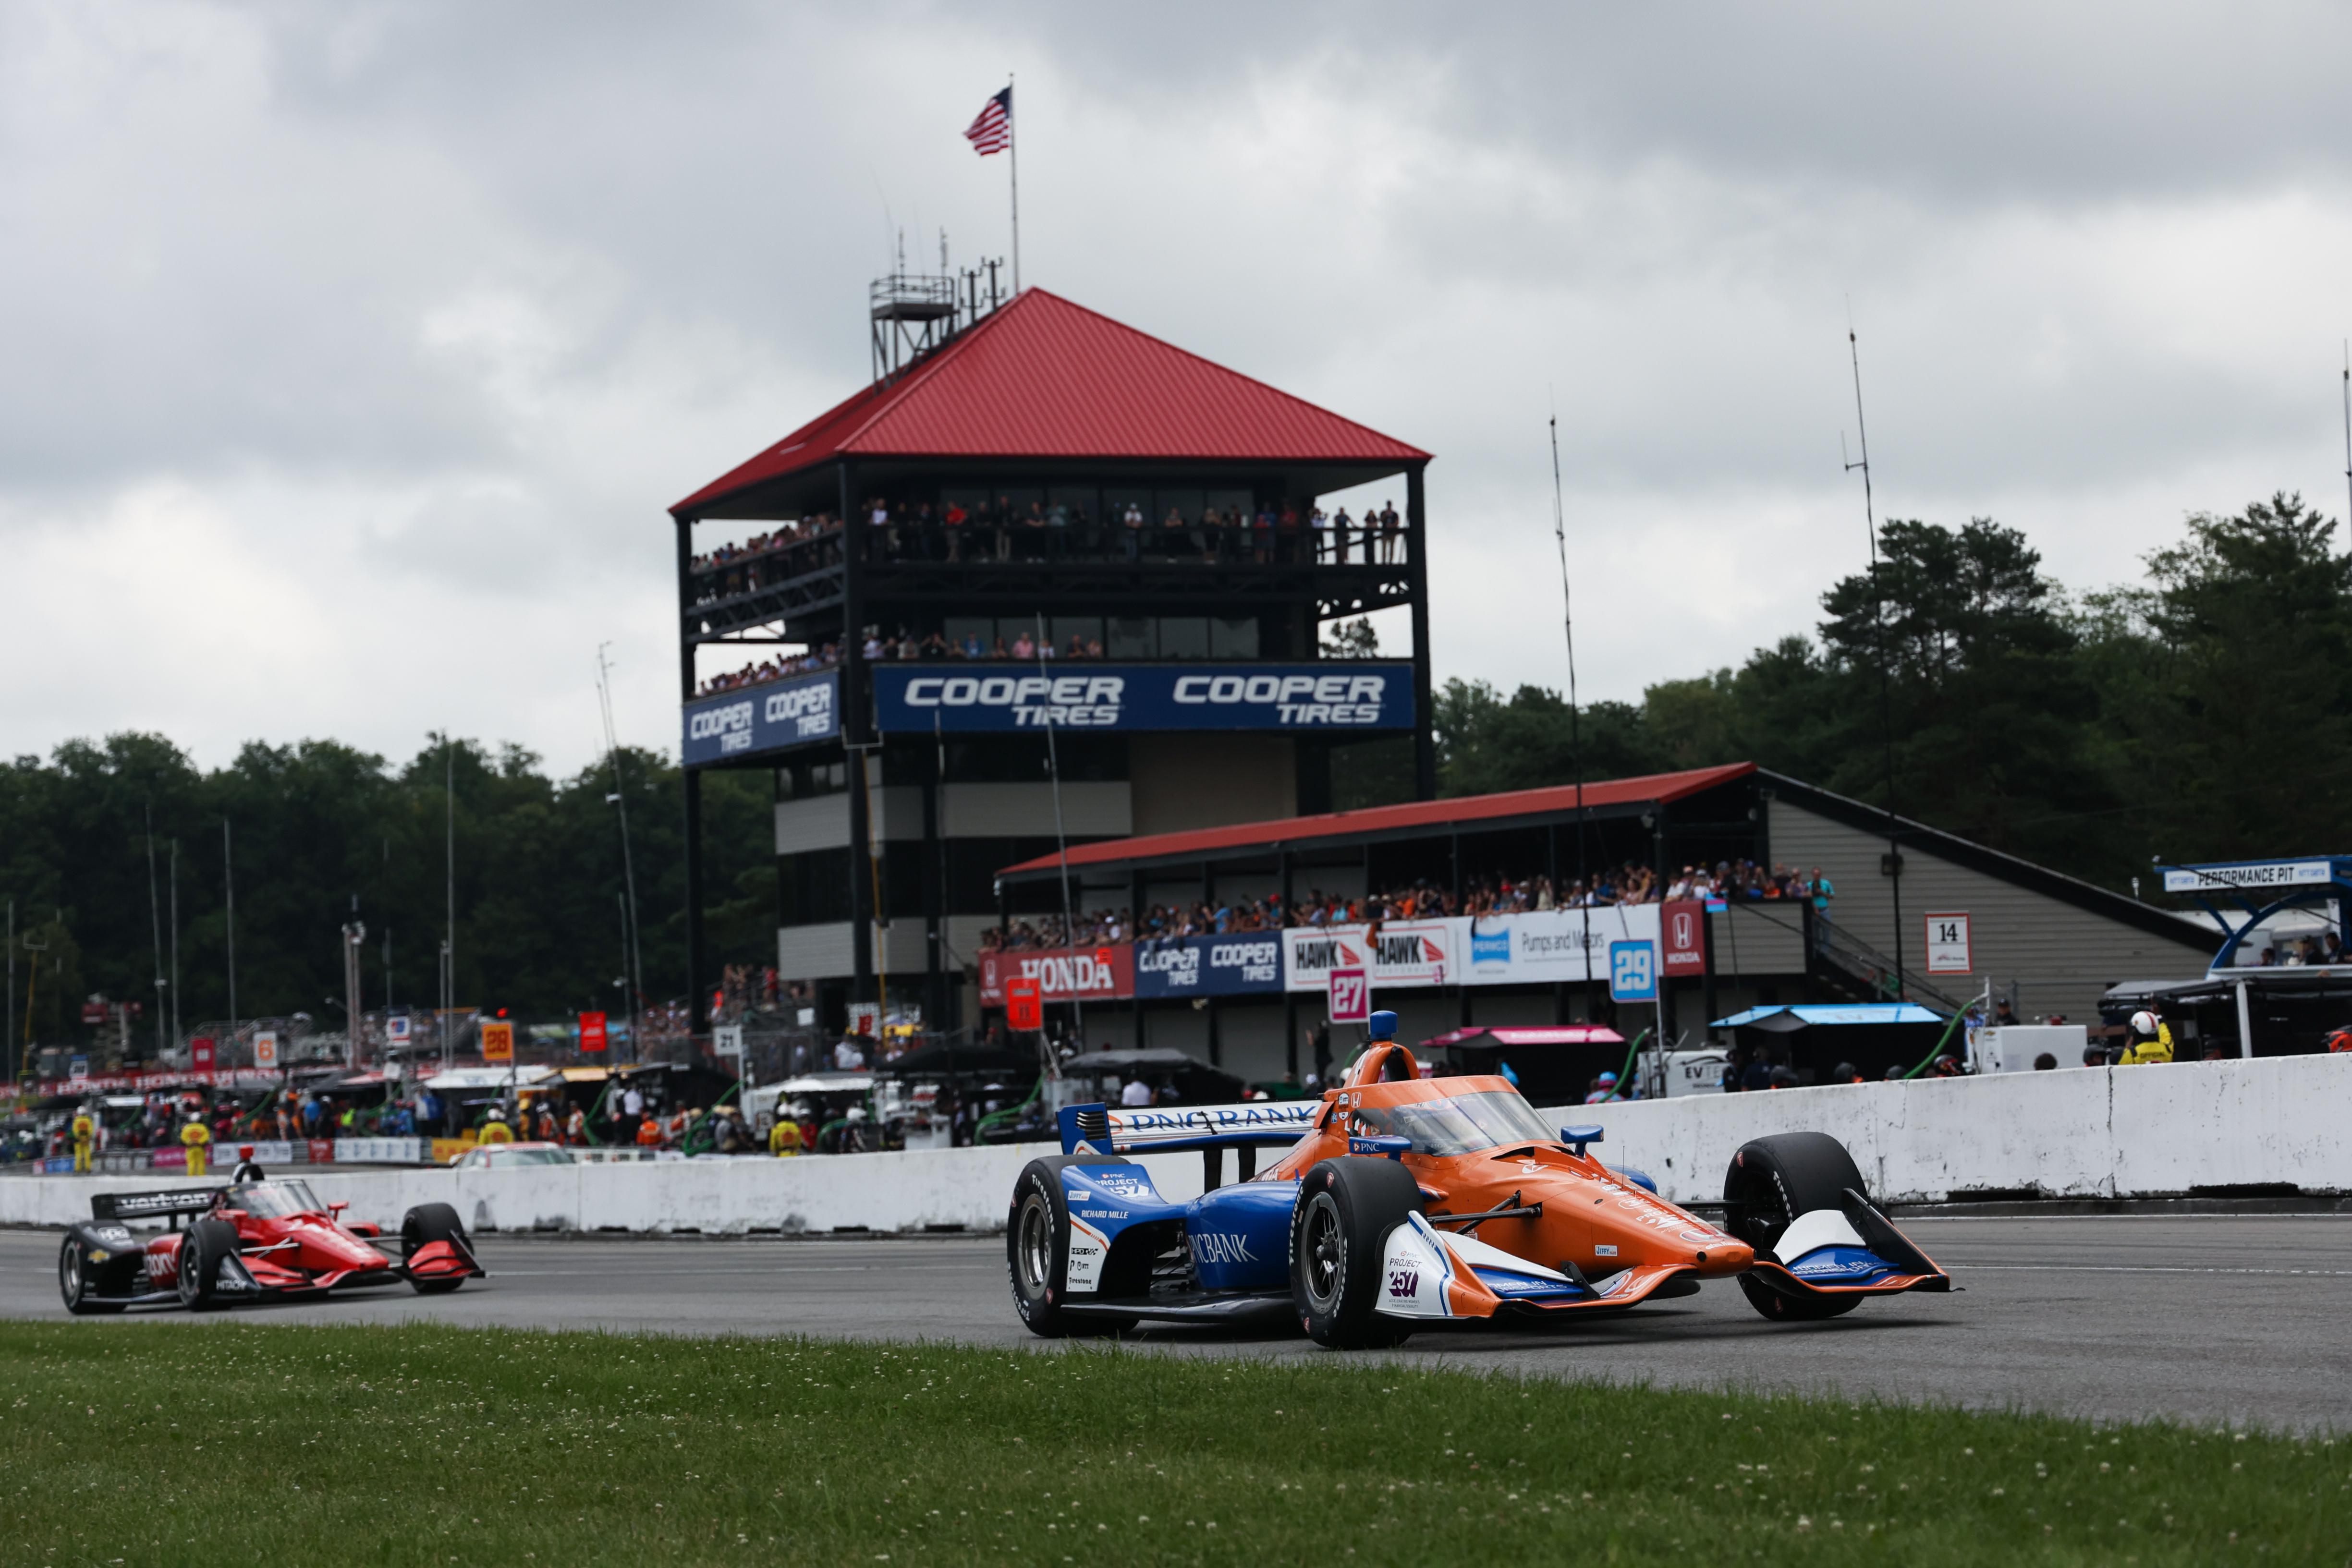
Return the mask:
<svg viewBox="0 0 2352 1568">
<path fill-rule="evenodd" d="M 1414 668 L 1404 663 L 877 665 L 873 677 L 875 717 L 891 733 L 1414 726 Z"/>
</svg>

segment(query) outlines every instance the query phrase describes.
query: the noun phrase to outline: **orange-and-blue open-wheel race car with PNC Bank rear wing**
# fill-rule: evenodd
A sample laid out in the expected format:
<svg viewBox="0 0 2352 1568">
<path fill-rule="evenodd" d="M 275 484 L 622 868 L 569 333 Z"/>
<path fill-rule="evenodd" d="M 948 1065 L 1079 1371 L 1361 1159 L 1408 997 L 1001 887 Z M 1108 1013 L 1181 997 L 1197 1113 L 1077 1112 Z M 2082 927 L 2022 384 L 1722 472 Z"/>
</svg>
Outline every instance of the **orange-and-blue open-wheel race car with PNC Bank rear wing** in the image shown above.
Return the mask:
<svg viewBox="0 0 2352 1568">
<path fill-rule="evenodd" d="M 1423 1079 L 1374 1016 L 1374 1041 L 1319 1100 L 1061 1112 L 1004 1225 L 1014 1309 L 1058 1338 L 1164 1321 L 1294 1321 L 1338 1349 L 1423 1328 L 1562 1324 L 1736 1279 L 1773 1321 L 1832 1319 L 1870 1295 L 1950 1291 L 1828 1133 L 1757 1138 L 1715 1227 L 1588 1154 L 1597 1126 L 1550 1128 L 1501 1077 Z M 1223 1185 L 1223 1152 L 1242 1180 Z M 1287 1147 L 1251 1173 L 1258 1147 Z M 1202 1150 L 1207 1192 L 1160 1197 L 1138 1150 Z"/>
</svg>

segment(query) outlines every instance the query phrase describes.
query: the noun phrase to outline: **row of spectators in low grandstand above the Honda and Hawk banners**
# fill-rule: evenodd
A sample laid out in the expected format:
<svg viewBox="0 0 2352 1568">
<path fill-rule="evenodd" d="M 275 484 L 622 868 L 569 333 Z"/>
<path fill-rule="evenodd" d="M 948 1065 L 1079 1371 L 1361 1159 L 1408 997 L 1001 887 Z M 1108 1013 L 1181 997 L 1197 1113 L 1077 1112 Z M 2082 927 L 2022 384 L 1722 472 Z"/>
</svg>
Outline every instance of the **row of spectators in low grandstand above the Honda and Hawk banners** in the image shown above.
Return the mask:
<svg viewBox="0 0 2352 1568">
<path fill-rule="evenodd" d="M 1665 886 L 1665 898 L 1724 898 L 1738 903 L 1804 900 L 1828 907 L 1835 889 L 1816 865 L 1811 875 L 1792 865 L 1757 860 L 1722 860 L 1712 870 L 1684 865 L 1682 875 Z M 1004 931 L 985 931 L 983 950 L 1018 947 L 1091 947 L 1101 943 L 1150 943 L 1181 936 L 1228 936 L 1237 931 L 1282 931 L 1287 926 L 1369 926 L 1390 919 L 1444 919 L 1449 914 L 1524 914 L 1543 910 L 1606 907 L 1628 903 L 1658 903 L 1658 875 L 1646 865 L 1625 863 L 1599 872 L 1590 882 L 1566 879 L 1555 889 L 1550 877 L 1482 877 L 1470 882 L 1461 896 L 1432 882 L 1416 882 L 1383 893 L 1343 898 L 1312 889 L 1305 898 L 1284 907 L 1279 893 L 1256 898 L 1221 898 L 1216 903 L 1150 905 L 1138 919 L 1134 910 L 1089 910 L 1065 929 L 1061 914 L 1042 914 L 1011 922 Z"/>
</svg>

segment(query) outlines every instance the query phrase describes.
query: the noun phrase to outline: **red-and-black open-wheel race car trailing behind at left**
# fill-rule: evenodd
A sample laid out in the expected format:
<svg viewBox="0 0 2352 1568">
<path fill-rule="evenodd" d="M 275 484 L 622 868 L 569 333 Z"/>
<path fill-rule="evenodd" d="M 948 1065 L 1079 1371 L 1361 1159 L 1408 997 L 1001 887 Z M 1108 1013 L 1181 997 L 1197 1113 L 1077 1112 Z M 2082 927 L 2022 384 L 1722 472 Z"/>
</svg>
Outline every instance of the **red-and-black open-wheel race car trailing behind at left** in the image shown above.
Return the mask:
<svg viewBox="0 0 2352 1568">
<path fill-rule="evenodd" d="M 127 1225 L 158 1218 L 172 1227 L 141 1237 Z M 73 1314 L 202 1312 L 390 1284 L 440 1295 L 482 1276 L 449 1204 L 409 1208 L 400 1234 L 386 1237 L 343 1220 L 343 1204 L 320 1204 L 301 1180 L 99 1192 L 56 1255 L 56 1288 Z"/>
</svg>

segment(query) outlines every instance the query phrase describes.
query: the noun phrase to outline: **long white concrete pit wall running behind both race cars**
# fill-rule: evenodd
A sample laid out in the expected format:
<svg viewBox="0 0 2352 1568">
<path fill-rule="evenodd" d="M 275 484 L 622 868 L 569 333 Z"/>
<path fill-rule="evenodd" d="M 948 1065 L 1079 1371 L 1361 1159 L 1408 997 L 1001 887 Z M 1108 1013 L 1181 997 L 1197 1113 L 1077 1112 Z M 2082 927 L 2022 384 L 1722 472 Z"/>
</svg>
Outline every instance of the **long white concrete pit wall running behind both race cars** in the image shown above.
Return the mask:
<svg viewBox="0 0 2352 1568">
<path fill-rule="evenodd" d="M 1599 1124 L 1606 1140 L 1595 1152 L 1649 1171 L 1677 1201 L 1719 1199 L 1724 1168 L 1750 1138 L 1825 1131 L 1853 1150 L 1875 1197 L 1903 1204 L 2020 1187 L 2049 1197 L 2166 1197 L 2253 1182 L 2352 1192 L 2352 1138 L 2340 1131 L 2347 1110 L 2352 1056 L 2284 1056 L 1686 1095 L 1543 1117 Z M 379 1225 L 397 1225 L 412 1204 L 447 1201 L 473 1229 L 988 1229 L 1004 1222 L 1021 1166 L 1047 1152 L 1051 1145 L 348 1175 L 296 1166 L 289 1175 Z M 1200 1154 L 1148 1154 L 1143 1164 L 1171 1199 L 1202 1190 Z M 0 1225 L 64 1225 L 89 1215 L 92 1192 L 172 1185 L 165 1175 L 12 1175 L 0 1180 Z"/>
</svg>

